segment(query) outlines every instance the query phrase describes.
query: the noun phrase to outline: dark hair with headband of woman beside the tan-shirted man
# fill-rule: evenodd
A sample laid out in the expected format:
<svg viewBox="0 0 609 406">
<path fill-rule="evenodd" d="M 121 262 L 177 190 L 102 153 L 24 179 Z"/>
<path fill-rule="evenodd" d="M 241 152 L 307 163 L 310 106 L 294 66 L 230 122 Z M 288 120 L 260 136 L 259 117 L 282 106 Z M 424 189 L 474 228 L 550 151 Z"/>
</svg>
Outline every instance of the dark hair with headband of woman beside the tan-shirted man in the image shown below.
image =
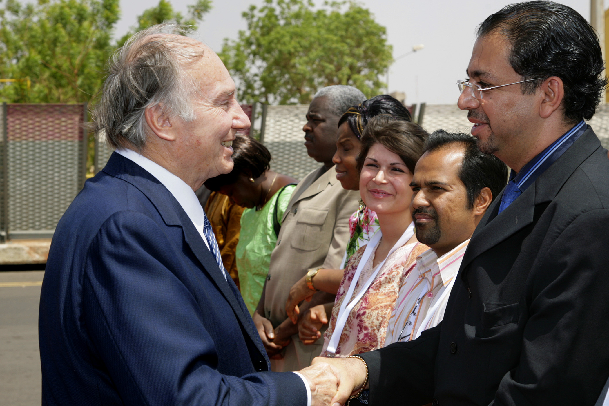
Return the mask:
<svg viewBox="0 0 609 406">
<path fill-rule="evenodd" d="M 357 106 L 353 106 L 340 117 L 339 127 L 343 122 L 348 122 L 351 131 L 359 139 L 364 132 L 364 128 L 368 121 L 379 114 L 388 114 L 396 120 L 412 121 L 410 113 L 406 107 L 397 99 L 389 96 L 389 94 L 381 94 L 380 96 L 371 97 L 364 100 Z"/>
</svg>

